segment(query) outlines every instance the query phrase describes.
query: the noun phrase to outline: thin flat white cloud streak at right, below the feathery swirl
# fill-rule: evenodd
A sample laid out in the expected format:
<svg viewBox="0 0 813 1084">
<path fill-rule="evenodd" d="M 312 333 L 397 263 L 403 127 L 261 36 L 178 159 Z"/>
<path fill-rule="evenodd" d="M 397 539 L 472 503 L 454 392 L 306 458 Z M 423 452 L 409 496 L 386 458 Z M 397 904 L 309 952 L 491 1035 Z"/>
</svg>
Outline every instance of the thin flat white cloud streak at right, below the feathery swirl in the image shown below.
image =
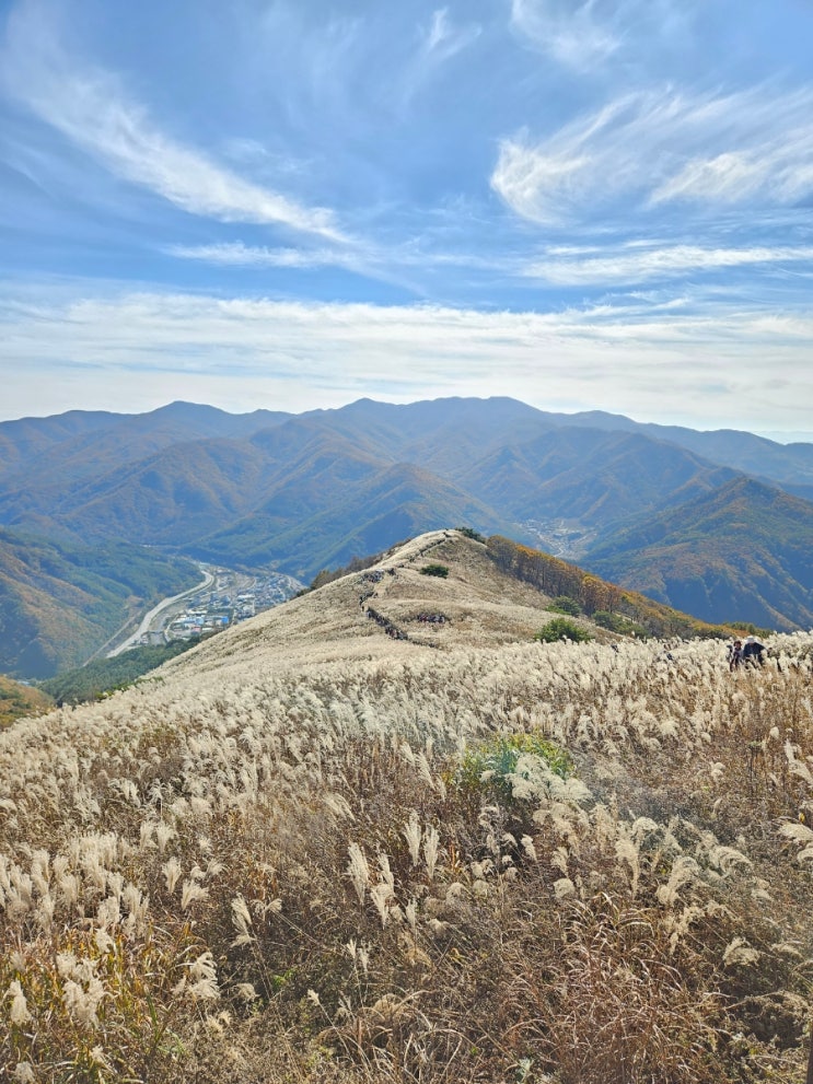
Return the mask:
<svg viewBox="0 0 813 1084">
<path fill-rule="evenodd" d="M 813 261 L 813 248 L 800 246 L 704 248 L 699 245 L 623 245 L 596 255 L 553 248 L 534 260 L 524 273 L 555 285 L 617 284 L 665 280 L 704 271 L 736 267 L 789 265 Z"/>
</svg>

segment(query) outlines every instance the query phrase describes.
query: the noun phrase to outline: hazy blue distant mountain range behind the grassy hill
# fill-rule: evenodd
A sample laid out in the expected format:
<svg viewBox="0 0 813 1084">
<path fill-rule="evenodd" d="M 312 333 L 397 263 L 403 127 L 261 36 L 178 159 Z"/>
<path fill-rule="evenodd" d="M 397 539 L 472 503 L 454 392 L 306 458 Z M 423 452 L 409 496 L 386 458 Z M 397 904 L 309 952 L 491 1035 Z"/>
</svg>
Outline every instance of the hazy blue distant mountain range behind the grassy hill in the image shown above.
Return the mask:
<svg viewBox="0 0 813 1084">
<path fill-rule="evenodd" d="M 811 500 L 811 444 L 508 398 L 0 423 L 0 524 L 43 544 L 126 543 L 307 582 L 468 525 L 704 620 L 777 629 L 813 623 Z"/>
</svg>

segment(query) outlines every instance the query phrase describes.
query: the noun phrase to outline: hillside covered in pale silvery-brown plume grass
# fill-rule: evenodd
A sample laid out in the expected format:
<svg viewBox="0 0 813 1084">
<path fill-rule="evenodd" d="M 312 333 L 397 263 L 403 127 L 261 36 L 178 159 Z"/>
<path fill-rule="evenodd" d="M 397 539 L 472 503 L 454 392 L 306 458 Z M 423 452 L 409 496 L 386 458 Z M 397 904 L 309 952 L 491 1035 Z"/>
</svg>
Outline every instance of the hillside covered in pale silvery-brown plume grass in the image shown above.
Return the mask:
<svg viewBox="0 0 813 1084">
<path fill-rule="evenodd" d="M 801 1081 L 813 636 L 549 604 L 437 532 L 0 734 L 0 1075 Z"/>
</svg>

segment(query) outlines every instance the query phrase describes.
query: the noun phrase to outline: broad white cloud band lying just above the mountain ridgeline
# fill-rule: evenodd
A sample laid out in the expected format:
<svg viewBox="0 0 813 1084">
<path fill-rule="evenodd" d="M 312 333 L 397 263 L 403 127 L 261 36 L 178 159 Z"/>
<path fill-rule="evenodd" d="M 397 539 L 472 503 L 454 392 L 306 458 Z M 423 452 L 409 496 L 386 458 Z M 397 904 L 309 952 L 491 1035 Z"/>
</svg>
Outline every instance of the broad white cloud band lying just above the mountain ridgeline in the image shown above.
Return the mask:
<svg viewBox="0 0 813 1084">
<path fill-rule="evenodd" d="M 690 314 L 631 299 L 484 313 L 137 294 L 20 303 L 0 330 L 8 417 L 172 398 L 304 410 L 361 395 L 513 395 L 698 428 L 802 430 L 813 397 L 806 311 Z"/>
</svg>

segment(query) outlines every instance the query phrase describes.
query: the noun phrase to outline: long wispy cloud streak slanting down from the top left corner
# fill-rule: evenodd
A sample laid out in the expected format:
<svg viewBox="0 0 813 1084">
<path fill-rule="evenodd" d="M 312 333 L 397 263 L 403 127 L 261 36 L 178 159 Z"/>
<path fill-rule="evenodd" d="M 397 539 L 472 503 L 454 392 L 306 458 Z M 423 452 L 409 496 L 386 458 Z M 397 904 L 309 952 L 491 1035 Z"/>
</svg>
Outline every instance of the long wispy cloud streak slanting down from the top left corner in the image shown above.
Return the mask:
<svg viewBox="0 0 813 1084">
<path fill-rule="evenodd" d="M 51 11 L 32 2 L 9 18 L 2 54 L 7 92 L 116 176 L 190 214 L 280 225 L 340 240 L 333 213 L 240 176 L 163 132 L 111 72 L 77 66 L 58 44 Z"/>
</svg>

